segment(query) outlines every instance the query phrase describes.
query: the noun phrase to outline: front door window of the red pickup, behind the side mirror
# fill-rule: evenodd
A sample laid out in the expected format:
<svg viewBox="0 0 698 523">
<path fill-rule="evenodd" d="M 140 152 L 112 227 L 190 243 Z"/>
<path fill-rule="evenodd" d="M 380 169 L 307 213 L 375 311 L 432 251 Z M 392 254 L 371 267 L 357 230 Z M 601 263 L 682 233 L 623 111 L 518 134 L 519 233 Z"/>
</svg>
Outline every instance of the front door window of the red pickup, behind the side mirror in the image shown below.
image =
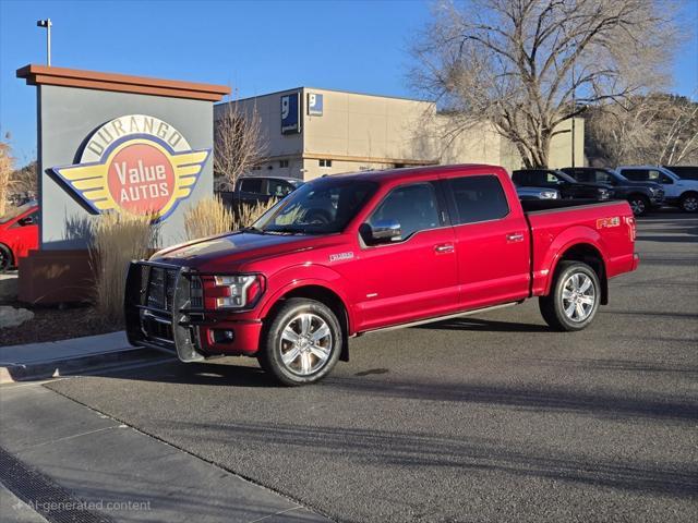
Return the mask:
<svg viewBox="0 0 698 523">
<path fill-rule="evenodd" d="M 402 240 L 441 226 L 436 194 L 431 183 L 416 183 L 394 188 L 369 218 L 373 227 L 378 221 L 395 220 L 400 224 Z"/>
</svg>

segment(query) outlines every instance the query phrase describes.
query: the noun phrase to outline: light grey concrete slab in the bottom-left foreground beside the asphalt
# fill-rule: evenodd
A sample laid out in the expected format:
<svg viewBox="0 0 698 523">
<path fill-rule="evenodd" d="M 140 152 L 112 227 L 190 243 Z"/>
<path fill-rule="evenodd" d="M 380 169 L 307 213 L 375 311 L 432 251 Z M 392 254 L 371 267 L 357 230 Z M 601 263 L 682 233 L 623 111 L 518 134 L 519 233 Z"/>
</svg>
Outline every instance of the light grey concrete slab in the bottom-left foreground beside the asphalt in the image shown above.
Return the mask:
<svg viewBox="0 0 698 523">
<path fill-rule="evenodd" d="M 0 387 L 0 483 L 24 503 L 3 521 L 328 521 L 39 384 Z"/>
</svg>

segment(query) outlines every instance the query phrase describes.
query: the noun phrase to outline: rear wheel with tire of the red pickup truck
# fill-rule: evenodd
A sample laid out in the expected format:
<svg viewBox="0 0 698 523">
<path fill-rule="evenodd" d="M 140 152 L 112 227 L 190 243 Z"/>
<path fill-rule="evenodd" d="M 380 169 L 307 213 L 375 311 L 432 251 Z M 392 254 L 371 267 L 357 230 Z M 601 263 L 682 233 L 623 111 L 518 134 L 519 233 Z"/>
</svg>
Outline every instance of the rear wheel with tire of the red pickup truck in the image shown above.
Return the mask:
<svg viewBox="0 0 698 523">
<path fill-rule="evenodd" d="M 543 319 L 555 330 L 588 327 L 601 302 L 598 275 L 581 262 L 561 262 L 555 275 L 550 294 L 538 300 Z"/>
</svg>

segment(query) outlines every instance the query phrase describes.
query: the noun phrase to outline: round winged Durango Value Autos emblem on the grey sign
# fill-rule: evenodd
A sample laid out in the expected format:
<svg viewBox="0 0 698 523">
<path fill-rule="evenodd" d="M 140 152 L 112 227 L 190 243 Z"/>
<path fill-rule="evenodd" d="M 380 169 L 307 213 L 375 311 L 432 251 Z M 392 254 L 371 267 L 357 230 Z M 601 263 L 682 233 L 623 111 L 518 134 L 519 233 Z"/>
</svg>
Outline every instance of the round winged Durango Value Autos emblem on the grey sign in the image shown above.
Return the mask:
<svg viewBox="0 0 698 523">
<path fill-rule="evenodd" d="M 97 129 L 79 163 L 51 171 L 93 212 L 160 221 L 191 195 L 209 155 L 209 148 L 192 149 L 169 123 L 129 114 Z"/>
</svg>

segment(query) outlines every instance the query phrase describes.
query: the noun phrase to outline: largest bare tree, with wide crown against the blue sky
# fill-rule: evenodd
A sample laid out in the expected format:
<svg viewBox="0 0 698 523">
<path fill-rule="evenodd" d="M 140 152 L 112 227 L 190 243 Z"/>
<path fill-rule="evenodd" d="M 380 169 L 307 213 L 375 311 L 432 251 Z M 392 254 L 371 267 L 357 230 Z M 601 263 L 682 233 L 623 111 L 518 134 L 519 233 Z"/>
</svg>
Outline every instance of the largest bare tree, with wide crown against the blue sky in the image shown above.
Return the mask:
<svg viewBox="0 0 698 523">
<path fill-rule="evenodd" d="M 462 131 L 490 120 L 526 167 L 546 167 L 557 125 L 665 80 L 676 42 L 660 0 L 442 2 L 413 47 L 413 86 Z"/>
</svg>

